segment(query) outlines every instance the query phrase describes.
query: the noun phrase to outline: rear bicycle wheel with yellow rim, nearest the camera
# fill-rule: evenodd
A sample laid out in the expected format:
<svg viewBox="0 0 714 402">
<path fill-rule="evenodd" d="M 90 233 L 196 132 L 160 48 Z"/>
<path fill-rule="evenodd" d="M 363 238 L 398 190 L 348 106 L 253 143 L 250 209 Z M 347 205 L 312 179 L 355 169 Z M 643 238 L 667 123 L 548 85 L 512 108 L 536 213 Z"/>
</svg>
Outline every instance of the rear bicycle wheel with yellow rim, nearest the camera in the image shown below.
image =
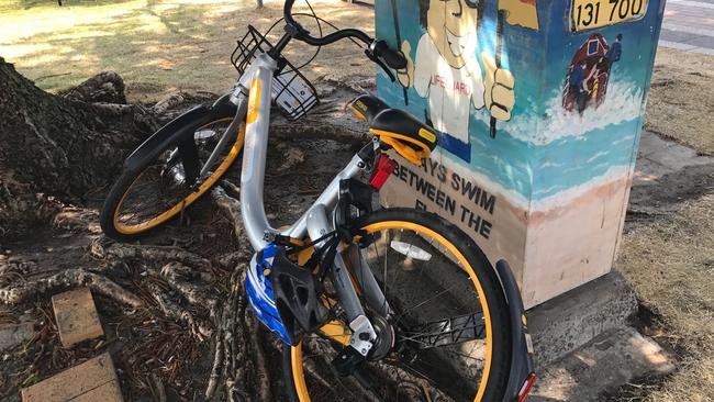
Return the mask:
<svg viewBox="0 0 714 402">
<path fill-rule="evenodd" d="M 438 215 L 411 209 L 380 210 L 355 226 L 352 246 L 391 312 L 380 316 L 379 308 L 367 308 L 378 340 L 354 376 L 339 377 L 333 368 L 348 339 L 346 324 L 335 321 L 332 330 L 324 326 L 286 348 L 289 397 L 301 402 L 502 401 L 511 360 L 507 308 L 478 246 Z M 355 268 L 350 273 L 360 290 L 364 278 Z"/>
</svg>

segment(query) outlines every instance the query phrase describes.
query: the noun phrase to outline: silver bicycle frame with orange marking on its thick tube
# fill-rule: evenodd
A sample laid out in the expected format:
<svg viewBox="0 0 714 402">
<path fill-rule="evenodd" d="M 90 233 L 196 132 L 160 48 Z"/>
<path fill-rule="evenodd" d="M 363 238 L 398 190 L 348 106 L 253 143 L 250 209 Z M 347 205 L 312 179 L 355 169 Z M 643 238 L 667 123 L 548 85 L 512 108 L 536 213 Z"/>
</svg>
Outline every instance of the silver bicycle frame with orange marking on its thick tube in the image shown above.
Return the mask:
<svg viewBox="0 0 714 402">
<path fill-rule="evenodd" d="M 333 216 L 337 204 L 339 181 L 356 177 L 366 167 L 366 161 L 355 155 L 295 223 L 282 231 L 270 226 L 266 216 L 263 196 L 270 126 L 272 77 L 277 68 L 277 63 L 270 56 L 267 54 L 259 55 L 241 77 L 231 98 L 238 105 L 238 111 L 245 111 L 245 115 L 241 115 L 241 112 L 238 112 L 235 120 L 239 121 L 238 119 L 245 118 L 246 121 L 241 171 L 241 212 L 248 241 L 256 252 L 265 248 L 275 234 L 282 234 L 293 238 L 304 238 L 305 236 L 319 238 L 334 231 L 334 222 L 330 217 Z M 248 89 L 249 92 L 246 96 Z M 243 105 L 243 102 L 247 102 L 247 108 Z M 352 283 L 349 271 L 339 253 L 335 256 L 331 275 L 349 321 L 349 327 L 354 332 L 350 345 L 362 356 L 367 356 L 372 346 L 371 342 L 377 338 L 377 334 L 365 315 L 365 310 Z M 377 282 L 373 277 L 370 282 L 365 284 L 372 288 L 370 286 L 372 283 L 376 289 L 373 291 L 370 289 L 370 299 L 375 299 L 372 302 L 376 305 L 388 309 L 384 297 L 379 287 L 376 286 Z M 368 336 L 360 337 L 359 335 L 362 333 Z"/>
</svg>

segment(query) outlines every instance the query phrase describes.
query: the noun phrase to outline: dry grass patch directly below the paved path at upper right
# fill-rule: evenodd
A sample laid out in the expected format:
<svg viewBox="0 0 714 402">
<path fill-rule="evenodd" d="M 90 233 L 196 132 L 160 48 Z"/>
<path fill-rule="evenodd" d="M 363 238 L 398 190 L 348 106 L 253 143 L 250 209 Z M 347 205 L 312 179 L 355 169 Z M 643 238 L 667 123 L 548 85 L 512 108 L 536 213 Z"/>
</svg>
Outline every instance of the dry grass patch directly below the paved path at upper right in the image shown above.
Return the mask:
<svg viewBox="0 0 714 402">
<path fill-rule="evenodd" d="M 714 155 L 714 56 L 657 51 L 645 129 Z"/>
</svg>

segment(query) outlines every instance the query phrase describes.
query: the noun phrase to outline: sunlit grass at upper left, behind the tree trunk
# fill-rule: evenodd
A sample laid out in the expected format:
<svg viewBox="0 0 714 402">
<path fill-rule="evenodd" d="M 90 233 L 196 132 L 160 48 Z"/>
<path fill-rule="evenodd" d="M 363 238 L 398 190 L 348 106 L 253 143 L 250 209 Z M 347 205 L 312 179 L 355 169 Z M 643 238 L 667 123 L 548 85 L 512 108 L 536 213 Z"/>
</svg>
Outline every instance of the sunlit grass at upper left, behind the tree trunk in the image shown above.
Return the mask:
<svg viewBox="0 0 714 402">
<path fill-rule="evenodd" d="M 213 18 L 207 15 L 215 3 L 152 3 L 75 0 L 63 7 L 16 7 L 0 16 L 0 26 L 9 27 L 1 35 L 0 54 L 49 91 L 107 69 L 120 72 L 130 89 L 147 93 L 198 90 L 199 77 L 228 76 L 233 38 L 210 23 Z M 212 59 L 208 72 L 199 68 L 207 57 Z M 170 74 L 176 68 L 182 74 Z"/>
</svg>

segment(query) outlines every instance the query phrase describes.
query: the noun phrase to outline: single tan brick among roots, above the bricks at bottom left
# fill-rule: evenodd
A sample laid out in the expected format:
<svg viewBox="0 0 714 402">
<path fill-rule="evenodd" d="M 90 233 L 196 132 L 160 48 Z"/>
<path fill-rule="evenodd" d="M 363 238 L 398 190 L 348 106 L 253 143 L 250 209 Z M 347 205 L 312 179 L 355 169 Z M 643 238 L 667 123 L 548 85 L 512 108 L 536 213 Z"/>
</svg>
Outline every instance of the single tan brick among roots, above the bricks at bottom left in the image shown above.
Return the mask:
<svg viewBox="0 0 714 402">
<path fill-rule="evenodd" d="M 104 335 L 91 291 L 79 288 L 52 297 L 62 345 L 74 345 Z"/>
</svg>

